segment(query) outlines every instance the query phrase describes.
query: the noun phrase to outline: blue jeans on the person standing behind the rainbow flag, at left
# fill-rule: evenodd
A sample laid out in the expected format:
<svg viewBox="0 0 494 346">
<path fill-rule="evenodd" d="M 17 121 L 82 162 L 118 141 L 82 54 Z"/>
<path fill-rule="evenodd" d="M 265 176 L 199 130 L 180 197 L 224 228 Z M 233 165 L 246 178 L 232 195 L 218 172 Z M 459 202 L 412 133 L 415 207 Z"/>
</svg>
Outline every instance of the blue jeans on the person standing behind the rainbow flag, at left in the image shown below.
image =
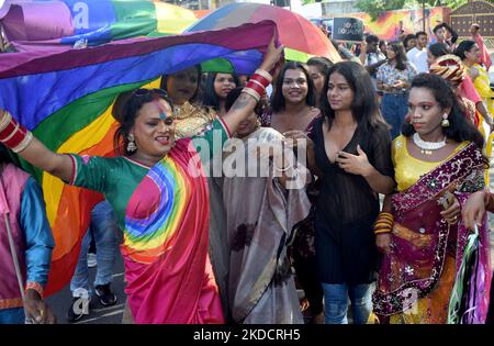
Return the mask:
<svg viewBox="0 0 494 346">
<path fill-rule="evenodd" d="M 79 261 L 76 272 L 70 281 L 70 291 L 82 288 L 89 295 L 92 290 L 89 287 L 88 249 L 91 238 L 94 237 L 97 247 L 97 276 L 94 286 L 112 282 L 113 265 L 115 263 L 116 246 L 116 220 L 113 210 L 106 201 L 98 203 L 91 211 L 91 225 L 86 232 L 80 248 Z"/>
</svg>

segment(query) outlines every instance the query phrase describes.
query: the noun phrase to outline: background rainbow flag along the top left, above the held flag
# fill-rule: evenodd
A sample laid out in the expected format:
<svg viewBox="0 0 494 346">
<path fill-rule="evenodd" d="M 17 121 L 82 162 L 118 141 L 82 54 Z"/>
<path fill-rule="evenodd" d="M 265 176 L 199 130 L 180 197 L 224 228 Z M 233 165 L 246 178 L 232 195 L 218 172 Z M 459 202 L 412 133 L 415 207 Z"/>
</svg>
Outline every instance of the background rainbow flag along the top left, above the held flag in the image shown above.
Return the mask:
<svg viewBox="0 0 494 346">
<path fill-rule="evenodd" d="M 7 40 L 20 51 L 47 44 L 89 45 L 146 35 L 180 34 L 194 23 L 184 8 L 147 0 L 7 0 L 2 7 Z"/>
</svg>

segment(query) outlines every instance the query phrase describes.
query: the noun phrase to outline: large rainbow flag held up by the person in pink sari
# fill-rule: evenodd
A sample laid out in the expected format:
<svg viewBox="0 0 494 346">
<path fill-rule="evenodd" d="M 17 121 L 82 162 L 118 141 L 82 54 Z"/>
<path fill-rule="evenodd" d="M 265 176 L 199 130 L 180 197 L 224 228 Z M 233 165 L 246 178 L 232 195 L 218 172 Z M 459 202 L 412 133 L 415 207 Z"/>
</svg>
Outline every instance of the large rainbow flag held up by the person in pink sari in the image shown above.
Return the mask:
<svg viewBox="0 0 494 346">
<path fill-rule="evenodd" d="M 160 77 L 213 58 L 252 74 L 271 37 L 271 21 L 180 36 L 142 37 L 82 49 L 1 54 L 0 109 L 5 109 L 57 153 L 113 155 L 112 115 L 121 92 L 158 87 Z M 55 237 L 47 293 L 71 278 L 90 210 L 102 199 L 64 185 L 20 159 L 42 183 Z"/>
</svg>

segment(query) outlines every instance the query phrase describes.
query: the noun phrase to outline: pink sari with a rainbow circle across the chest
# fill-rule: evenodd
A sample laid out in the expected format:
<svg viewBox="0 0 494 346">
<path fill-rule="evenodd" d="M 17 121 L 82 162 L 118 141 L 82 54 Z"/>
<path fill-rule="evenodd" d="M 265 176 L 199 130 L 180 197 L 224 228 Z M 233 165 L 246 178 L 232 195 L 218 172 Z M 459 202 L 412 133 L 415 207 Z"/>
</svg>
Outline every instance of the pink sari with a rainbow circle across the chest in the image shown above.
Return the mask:
<svg viewBox="0 0 494 346">
<path fill-rule="evenodd" d="M 126 209 L 125 227 L 132 234 L 122 254 L 135 323 L 224 322 L 207 256 L 207 182 L 202 166 L 189 164 L 195 155 L 189 144 L 177 141 Z"/>
</svg>

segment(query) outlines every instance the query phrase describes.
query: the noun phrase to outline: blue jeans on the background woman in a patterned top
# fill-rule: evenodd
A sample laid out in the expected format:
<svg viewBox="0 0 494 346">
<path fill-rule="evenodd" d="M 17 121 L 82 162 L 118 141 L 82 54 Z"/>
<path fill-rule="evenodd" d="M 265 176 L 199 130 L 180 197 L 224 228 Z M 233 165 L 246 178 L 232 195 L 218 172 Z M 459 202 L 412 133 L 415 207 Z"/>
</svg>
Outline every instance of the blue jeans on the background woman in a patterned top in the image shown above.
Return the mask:
<svg viewBox="0 0 494 346">
<path fill-rule="evenodd" d="M 384 93 L 381 100 L 381 113 L 391 125 L 391 138 L 396 138 L 402 133 L 402 125 L 408 113 L 408 93 Z"/>
</svg>

